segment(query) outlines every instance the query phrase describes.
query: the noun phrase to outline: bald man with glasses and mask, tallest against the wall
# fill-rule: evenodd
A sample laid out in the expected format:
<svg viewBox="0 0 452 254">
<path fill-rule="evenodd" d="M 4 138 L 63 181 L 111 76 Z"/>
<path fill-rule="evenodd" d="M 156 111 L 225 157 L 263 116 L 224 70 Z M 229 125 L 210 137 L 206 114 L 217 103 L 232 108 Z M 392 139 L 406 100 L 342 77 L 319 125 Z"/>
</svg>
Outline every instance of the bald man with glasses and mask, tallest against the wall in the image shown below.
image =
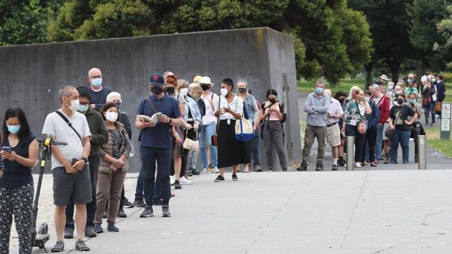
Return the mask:
<svg viewBox="0 0 452 254">
<path fill-rule="evenodd" d="M 99 111 L 106 103 L 106 96 L 113 91 L 110 87 L 102 86 L 102 72 L 100 69 L 92 68 L 88 71 L 88 82 L 90 83 L 90 106 Z"/>
</svg>

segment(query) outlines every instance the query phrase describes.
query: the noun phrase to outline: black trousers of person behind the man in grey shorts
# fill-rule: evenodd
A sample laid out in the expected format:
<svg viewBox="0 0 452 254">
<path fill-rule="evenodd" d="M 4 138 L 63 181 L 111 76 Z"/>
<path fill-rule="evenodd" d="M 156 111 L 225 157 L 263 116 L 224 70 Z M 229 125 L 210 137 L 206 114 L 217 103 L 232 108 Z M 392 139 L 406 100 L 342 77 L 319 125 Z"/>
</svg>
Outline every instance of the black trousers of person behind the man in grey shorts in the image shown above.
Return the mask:
<svg viewBox="0 0 452 254">
<path fill-rule="evenodd" d="M 99 172 L 100 158 L 99 155 L 92 155 L 88 157 L 90 163 L 90 178 L 91 178 L 91 194 L 92 201 L 86 204 L 86 227 L 94 227 L 94 216 L 97 208 L 96 200 L 96 185 L 97 185 L 97 173 Z M 66 225 L 65 228 L 74 228 L 74 203 L 70 203 L 66 207 Z"/>
</svg>

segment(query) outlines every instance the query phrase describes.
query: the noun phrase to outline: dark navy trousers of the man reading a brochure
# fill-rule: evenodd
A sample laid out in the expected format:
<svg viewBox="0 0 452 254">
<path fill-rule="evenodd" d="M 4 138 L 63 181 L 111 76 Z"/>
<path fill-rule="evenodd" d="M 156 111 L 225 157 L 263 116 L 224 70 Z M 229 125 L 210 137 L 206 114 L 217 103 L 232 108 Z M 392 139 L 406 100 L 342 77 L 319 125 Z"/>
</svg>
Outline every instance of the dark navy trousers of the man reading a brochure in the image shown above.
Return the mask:
<svg viewBox="0 0 452 254">
<path fill-rule="evenodd" d="M 141 164 L 145 178 L 143 180 L 145 191 L 145 202 L 152 206 L 154 201 L 154 190 L 159 188 L 163 205 L 168 205 L 171 198 L 170 164 L 172 149 L 161 149 L 154 147 L 140 147 Z M 157 162 L 157 178 L 155 179 Z"/>
</svg>

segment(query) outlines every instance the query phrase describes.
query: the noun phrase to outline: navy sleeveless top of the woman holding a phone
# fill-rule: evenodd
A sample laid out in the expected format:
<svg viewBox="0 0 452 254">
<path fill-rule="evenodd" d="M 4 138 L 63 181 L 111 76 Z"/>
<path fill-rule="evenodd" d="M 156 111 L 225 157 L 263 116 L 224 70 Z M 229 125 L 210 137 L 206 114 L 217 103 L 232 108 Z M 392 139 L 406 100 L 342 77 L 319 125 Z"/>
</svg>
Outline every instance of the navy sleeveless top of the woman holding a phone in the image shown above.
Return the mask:
<svg viewBox="0 0 452 254">
<path fill-rule="evenodd" d="M 16 152 L 17 155 L 21 155 L 24 158 L 29 158 L 29 146 L 34 140 L 34 135 L 22 137 L 17 146 L 11 147 L 11 151 Z M 1 144 L 1 146 L 10 146 L 7 136 L 3 139 L 3 144 Z M 3 170 L 3 177 L 0 178 L 0 187 L 16 189 L 33 183 L 31 168 L 25 167 L 15 160 L 3 160 L 3 164 L 5 169 Z"/>
</svg>

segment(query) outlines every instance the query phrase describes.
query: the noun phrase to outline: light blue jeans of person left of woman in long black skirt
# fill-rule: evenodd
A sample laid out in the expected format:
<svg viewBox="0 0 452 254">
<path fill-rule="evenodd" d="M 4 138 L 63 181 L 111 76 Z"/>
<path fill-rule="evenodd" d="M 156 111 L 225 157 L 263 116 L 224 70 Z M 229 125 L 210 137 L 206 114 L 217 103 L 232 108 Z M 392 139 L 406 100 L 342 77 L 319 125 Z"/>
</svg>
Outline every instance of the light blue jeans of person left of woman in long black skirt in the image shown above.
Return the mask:
<svg viewBox="0 0 452 254">
<path fill-rule="evenodd" d="M 207 168 L 209 166 L 207 164 L 207 146 L 209 146 L 210 150 L 211 164 L 213 167 L 218 167 L 217 148 L 216 146 L 212 146 L 211 139 L 216 131 L 216 123 L 213 122 L 211 124 L 204 125 L 200 129 L 200 155 L 202 159 L 202 167 Z"/>
</svg>

